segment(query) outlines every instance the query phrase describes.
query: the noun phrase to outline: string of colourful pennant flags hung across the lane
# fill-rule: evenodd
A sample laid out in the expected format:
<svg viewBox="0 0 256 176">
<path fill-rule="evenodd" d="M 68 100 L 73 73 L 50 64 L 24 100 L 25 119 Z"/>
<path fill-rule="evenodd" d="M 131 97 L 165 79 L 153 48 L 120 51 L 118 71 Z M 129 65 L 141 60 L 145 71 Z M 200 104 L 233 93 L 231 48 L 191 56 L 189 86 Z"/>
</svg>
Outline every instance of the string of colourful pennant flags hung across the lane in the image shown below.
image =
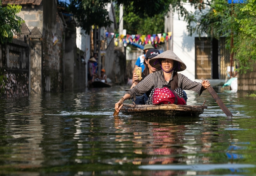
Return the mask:
<svg viewBox="0 0 256 176">
<path fill-rule="evenodd" d="M 128 44 L 128 43 L 136 43 L 140 45 L 145 45 L 145 44 L 157 44 L 157 43 L 164 43 L 165 41 L 168 41 L 171 39 L 172 32 L 167 32 L 167 33 L 159 33 L 159 34 L 152 34 L 152 35 L 140 35 L 140 34 L 126 34 L 123 35 L 121 34 L 115 34 L 114 32 L 106 32 L 106 37 L 111 37 L 111 38 L 116 38 L 117 40 L 115 41 L 115 45 L 118 46 L 118 42 L 123 44 Z"/>
</svg>

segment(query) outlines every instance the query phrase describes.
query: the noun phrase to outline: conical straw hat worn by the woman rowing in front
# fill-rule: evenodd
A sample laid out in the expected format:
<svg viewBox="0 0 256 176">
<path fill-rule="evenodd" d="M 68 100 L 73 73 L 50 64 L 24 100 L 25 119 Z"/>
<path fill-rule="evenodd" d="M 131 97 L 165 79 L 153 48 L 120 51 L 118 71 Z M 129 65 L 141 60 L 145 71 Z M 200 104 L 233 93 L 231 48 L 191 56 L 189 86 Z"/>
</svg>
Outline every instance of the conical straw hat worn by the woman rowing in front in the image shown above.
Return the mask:
<svg viewBox="0 0 256 176">
<path fill-rule="evenodd" d="M 158 61 L 158 59 L 171 59 L 173 61 L 179 62 L 180 66 L 176 66 L 176 68 L 174 69 L 175 71 L 183 71 L 187 68 L 187 66 L 182 62 L 182 60 L 171 50 L 164 51 L 158 56 L 149 60 L 149 64 L 152 67 L 156 69 L 162 69 L 160 66 L 161 62 Z"/>
</svg>

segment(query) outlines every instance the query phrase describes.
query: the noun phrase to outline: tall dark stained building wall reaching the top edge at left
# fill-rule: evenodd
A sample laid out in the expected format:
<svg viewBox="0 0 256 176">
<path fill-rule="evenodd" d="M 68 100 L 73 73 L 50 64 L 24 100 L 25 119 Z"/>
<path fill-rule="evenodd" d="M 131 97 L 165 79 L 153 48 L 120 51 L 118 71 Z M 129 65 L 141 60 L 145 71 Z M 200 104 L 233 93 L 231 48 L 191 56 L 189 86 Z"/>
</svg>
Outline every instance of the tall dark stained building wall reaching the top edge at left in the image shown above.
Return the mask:
<svg viewBox="0 0 256 176">
<path fill-rule="evenodd" d="M 43 91 L 59 92 L 64 89 L 63 42 L 64 24 L 57 13 L 56 1 L 43 1 Z M 54 36 L 59 40 L 55 45 Z"/>
</svg>

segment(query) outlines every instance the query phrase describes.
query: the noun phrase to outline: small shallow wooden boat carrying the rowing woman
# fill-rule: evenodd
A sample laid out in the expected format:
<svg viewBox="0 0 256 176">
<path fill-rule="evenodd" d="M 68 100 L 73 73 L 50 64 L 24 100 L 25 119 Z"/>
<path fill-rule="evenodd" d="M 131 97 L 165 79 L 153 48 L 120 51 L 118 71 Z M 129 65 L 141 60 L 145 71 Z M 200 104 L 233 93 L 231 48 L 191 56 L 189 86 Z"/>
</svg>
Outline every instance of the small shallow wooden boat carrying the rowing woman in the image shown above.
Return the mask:
<svg viewBox="0 0 256 176">
<path fill-rule="evenodd" d="M 121 112 L 126 115 L 137 115 L 141 117 L 199 117 L 207 109 L 207 106 L 192 105 L 133 105 L 124 104 Z"/>
</svg>

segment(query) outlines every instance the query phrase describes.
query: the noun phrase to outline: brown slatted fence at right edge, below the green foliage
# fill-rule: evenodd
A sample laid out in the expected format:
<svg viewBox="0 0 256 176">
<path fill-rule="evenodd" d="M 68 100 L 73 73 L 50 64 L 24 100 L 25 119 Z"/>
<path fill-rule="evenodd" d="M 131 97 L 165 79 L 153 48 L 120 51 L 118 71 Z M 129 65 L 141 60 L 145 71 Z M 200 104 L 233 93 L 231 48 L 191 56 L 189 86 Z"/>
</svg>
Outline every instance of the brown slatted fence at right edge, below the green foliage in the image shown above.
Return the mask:
<svg viewBox="0 0 256 176">
<path fill-rule="evenodd" d="M 237 79 L 237 90 L 256 91 L 256 63 L 253 71 L 247 71 L 246 74 L 239 74 Z"/>
</svg>

